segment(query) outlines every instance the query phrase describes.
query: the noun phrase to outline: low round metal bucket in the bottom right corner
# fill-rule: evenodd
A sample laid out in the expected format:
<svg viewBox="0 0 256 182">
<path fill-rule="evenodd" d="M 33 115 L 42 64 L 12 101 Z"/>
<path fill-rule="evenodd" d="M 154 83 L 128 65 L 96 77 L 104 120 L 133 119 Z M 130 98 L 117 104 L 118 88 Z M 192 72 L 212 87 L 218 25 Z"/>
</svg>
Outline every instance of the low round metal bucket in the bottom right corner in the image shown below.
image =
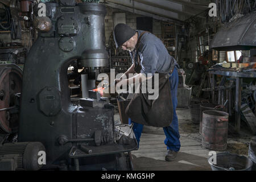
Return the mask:
<svg viewBox="0 0 256 182">
<path fill-rule="evenodd" d="M 216 164 L 213 163 L 213 158 L 214 156 L 211 156 L 208 159 L 213 171 L 250 171 L 253 166 L 253 162 L 243 155 L 219 153 L 216 154 Z"/>
</svg>

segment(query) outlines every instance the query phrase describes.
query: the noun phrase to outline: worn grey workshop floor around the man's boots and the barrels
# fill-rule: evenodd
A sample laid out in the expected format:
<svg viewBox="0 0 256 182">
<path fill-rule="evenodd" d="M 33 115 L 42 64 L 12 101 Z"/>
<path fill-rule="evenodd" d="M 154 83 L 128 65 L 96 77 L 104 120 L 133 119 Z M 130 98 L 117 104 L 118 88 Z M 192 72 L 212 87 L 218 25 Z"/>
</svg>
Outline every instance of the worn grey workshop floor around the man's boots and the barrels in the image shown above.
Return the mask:
<svg viewBox="0 0 256 182">
<path fill-rule="evenodd" d="M 210 150 L 201 146 L 199 125 L 191 122 L 190 110 L 177 108 L 176 112 L 179 119 L 181 143 L 177 158 L 172 162 L 164 160 L 167 149 L 164 144 L 165 135 L 162 128 L 144 126 L 139 150 L 131 152 L 135 171 L 211 170 L 208 163 Z M 115 122 L 119 122 L 119 114 L 115 114 Z M 247 155 L 251 137 L 250 134 L 243 134 L 242 136 L 229 134 L 226 151 Z"/>
</svg>

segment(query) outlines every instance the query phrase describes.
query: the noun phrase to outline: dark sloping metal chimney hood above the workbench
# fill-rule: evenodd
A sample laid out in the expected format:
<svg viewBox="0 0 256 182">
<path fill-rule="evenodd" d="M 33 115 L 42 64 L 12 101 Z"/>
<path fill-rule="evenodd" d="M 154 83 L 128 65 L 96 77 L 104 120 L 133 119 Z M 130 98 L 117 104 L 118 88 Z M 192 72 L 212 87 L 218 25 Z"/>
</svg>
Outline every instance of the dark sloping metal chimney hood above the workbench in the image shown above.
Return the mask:
<svg viewBox="0 0 256 182">
<path fill-rule="evenodd" d="M 256 12 L 244 15 L 222 26 L 214 35 L 210 48 L 217 51 L 256 48 Z"/>
</svg>

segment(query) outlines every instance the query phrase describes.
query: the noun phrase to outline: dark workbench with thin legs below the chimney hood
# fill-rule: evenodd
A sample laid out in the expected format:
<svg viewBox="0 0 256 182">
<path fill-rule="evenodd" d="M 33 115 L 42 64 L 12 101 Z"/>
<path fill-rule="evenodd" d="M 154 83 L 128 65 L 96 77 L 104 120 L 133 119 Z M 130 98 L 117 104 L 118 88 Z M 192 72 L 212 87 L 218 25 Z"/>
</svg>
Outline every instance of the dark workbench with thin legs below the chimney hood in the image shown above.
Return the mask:
<svg viewBox="0 0 256 182">
<path fill-rule="evenodd" d="M 236 78 L 236 101 L 235 101 L 235 129 L 237 132 L 240 131 L 241 125 L 241 90 L 242 90 L 242 78 L 256 78 L 256 72 L 237 72 L 230 71 L 230 69 L 209 69 L 209 75 L 212 79 L 212 99 L 214 100 L 215 92 L 215 80 L 214 75 L 221 75 L 226 77 L 235 77 Z"/>
</svg>

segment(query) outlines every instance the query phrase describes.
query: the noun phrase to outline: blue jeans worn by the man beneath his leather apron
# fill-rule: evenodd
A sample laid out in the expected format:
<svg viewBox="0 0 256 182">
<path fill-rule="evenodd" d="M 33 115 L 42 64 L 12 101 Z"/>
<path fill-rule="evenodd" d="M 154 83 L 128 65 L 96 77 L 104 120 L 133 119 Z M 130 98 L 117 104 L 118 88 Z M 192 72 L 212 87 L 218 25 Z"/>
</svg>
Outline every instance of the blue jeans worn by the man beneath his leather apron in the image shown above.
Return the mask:
<svg viewBox="0 0 256 182">
<path fill-rule="evenodd" d="M 164 144 L 167 146 L 167 150 L 173 150 L 175 152 L 180 150 L 180 134 L 179 134 L 179 124 L 177 120 L 176 107 L 177 107 L 177 85 L 179 83 L 179 75 L 177 73 L 177 68 L 174 68 L 174 72 L 169 77 L 170 86 L 171 86 L 171 96 L 172 96 L 172 105 L 174 109 L 174 116 L 172 118 L 172 123 L 168 127 L 163 127 L 164 134 L 166 134 L 166 139 Z M 143 130 L 143 125 L 131 121 L 129 118 L 129 125 L 133 123 L 133 131 L 139 146 L 139 138 L 141 138 L 141 133 Z"/>
</svg>

